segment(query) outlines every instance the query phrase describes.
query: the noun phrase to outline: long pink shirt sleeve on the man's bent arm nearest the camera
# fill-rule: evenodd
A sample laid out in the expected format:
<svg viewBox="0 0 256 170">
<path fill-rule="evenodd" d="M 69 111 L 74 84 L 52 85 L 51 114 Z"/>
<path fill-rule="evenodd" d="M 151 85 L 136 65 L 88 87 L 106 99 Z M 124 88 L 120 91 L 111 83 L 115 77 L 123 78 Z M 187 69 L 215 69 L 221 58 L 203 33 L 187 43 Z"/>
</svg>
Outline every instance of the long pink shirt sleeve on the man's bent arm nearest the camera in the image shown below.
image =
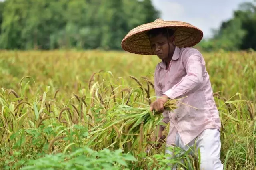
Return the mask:
<svg viewBox="0 0 256 170">
<path fill-rule="evenodd" d="M 171 89 L 164 92 L 170 99 L 176 99 L 188 93 L 203 81 L 204 63 L 202 63 L 202 55 L 199 52 L 192 53 L 192 55 L 189 55 L 189 57 L 184 60 L 186 76 Z"/>
</svg>

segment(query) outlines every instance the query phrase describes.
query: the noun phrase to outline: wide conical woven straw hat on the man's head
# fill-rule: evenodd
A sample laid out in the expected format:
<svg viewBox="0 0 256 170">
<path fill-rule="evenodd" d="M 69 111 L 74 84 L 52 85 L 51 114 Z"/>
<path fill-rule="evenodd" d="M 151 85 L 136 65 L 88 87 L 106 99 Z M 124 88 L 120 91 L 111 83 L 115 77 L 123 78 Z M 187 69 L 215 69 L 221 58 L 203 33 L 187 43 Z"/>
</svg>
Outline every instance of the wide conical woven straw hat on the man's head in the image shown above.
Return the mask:
<svg viewBox="0 0 256 170">
<path fill-rule="evenodd" d="M 146 34 L 147 31 L 154 28 L 170 28 L 174 30 L 175 45 L 178 47 L 193 47 L 203 38 L 203 32 L 189 23 L 164 21 L 158 18 L 154 22 L 143 24 L 130 30 L 122 40 L 121 47 L 130 53 L 154 55 Z"/>
</svg>

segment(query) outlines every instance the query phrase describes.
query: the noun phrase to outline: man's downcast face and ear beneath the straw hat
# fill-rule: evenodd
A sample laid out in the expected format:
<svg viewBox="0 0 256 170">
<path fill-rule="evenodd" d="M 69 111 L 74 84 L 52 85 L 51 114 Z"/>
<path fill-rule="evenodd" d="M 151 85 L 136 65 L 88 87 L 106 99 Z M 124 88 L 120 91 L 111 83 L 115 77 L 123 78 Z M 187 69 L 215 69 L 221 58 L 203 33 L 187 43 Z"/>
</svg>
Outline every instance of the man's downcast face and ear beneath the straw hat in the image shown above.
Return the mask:
<svg viewBox="0 0 256 170">
<path fill-rule="evenodd" d="M 170 53 L 172 53 L 175 49 L 174 45 L 172 44 L 172 40 L 173 40 L 173 37 L 170 37 L 169 38 Z M 150 43 L 151 43 L 152 50 L 158 56 L 159 59 L 163 60 L 168 58 L 169 45 L 168 45 L 168 40 L 166 36 L 162 34 L 158 34 L 158 36 L 150 38 Z"/>
</svg>

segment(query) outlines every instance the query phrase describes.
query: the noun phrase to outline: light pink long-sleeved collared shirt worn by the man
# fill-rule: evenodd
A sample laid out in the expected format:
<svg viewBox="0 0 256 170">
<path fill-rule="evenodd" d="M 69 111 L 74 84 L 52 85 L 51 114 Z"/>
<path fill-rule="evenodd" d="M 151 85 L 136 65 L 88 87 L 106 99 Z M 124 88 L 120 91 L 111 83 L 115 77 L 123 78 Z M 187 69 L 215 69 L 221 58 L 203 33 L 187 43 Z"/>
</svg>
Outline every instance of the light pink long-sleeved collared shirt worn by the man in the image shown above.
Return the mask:
<svg viewBox="0 0 256 170">
<path fill-rule="evenodd" d="M 180 102 L 186 105 L 178 103 L 174 112 L 163 112 L 162 121 L 166 124 L 170 121 L 168 145 L 174 144 L 177 132 L 184 144 L 188 144 L 206 128 L 220 130 L 220 117 L 209 75 L 204 58 L 197 49 L 176 46 L 169 68 L 166 69 L 163 61 L 156 66 L 154 86 L 156 96 L 185 97 Z"/>
</svg>

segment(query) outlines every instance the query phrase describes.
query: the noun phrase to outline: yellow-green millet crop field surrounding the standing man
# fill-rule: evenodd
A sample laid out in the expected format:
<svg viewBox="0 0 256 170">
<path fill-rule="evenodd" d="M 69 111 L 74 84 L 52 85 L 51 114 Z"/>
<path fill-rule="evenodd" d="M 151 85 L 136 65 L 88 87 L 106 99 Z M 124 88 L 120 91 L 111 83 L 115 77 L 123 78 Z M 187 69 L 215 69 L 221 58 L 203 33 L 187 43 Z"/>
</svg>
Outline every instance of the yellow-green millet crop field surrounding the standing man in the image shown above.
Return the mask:
<svg viewBox="0 0 256 170">
<path fill-rule="evenodd" d="M 203 56 L 224 169 L 256 170 L 256 53 Z M 158 62 L 116 51 L 1 51 L 0 169 L 198 170 L 200 155 L 168 160 L 150 141 L 161 119 L 149 111 Z"/>
</svg>

